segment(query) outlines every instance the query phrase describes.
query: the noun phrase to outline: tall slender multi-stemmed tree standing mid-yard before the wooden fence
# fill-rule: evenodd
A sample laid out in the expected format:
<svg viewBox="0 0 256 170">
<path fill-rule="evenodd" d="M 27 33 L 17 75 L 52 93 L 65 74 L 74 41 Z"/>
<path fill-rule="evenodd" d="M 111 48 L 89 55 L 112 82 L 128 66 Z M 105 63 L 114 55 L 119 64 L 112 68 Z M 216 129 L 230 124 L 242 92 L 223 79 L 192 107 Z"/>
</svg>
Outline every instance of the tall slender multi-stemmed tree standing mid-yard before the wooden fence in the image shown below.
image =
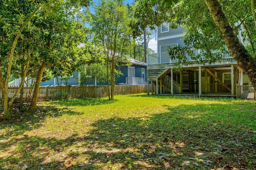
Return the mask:
<svg viewBox="0 0 256 170">
<path fill-rule="evenodd" d="M 131 29 L 128 27 L 128 9 L 123 0 L 100 0 L 94 7 L 91 19 L 94 43 L 105 49 L 107 85 L 110 92 L 108 98 L 112 100 L 120 66 L 132 48 L 129 42 Z"/>
</svg>

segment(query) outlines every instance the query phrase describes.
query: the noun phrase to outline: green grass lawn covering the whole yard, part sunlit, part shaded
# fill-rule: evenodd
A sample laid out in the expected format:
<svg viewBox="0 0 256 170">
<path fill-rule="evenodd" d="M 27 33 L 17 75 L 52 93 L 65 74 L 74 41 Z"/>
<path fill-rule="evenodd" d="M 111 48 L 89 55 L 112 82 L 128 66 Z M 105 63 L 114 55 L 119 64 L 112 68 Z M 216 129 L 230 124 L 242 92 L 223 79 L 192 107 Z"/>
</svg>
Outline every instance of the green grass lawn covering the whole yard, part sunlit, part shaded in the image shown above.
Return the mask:
<svg viewBox="0 0 256 170">
<path fill-rule="evenodd" d="M 0 123 L 0 168 L 256 169 L 256 101 L 62 100 Z"/>
</svg>

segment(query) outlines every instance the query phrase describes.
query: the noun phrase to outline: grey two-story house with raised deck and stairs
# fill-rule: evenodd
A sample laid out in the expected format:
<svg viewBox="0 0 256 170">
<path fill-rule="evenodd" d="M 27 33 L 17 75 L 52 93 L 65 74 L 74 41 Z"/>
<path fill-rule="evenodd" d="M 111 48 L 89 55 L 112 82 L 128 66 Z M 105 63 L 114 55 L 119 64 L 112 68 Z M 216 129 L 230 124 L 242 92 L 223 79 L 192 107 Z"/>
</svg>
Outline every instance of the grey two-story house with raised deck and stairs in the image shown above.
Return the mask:
<svg viewBox="0 0 256 170">
<path fill-rule="evenodd" d="M 170 29 L 168 22 L 158 27 L 158 53 L 149 54 L 147 59 L 148 81 L 155 85 L 152 94 L 235 97 L 236 84 L 243 83 L 243 70 L 226 52 L 221 61 L 212 64 L 198 64 L 187 55 L 190 64 L 183 65 L 180 71 L 174 69 L 177 60 L 170 59 L 166 50 L 168 47 L 184 46 L 183 34 L 181 26 Z M 194 50 L 194 53 L 199 52 Z"/>
</svg>

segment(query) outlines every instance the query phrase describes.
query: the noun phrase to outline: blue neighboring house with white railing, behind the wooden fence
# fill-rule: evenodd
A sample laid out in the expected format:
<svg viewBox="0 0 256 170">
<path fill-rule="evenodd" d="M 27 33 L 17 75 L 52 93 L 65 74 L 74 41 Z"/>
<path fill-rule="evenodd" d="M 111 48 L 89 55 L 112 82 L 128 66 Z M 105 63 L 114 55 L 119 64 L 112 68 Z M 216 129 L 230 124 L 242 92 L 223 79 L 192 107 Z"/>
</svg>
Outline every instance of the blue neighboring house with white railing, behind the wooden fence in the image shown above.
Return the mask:
<svg viewBox="0 0 256 170">
<path fill-rule="evenodd" d="M 116 84 L 147 84 L 147 64 L 141 61 L 138 61 L 133 58 L 128 59 L 131 63 L 130 66 L 122 66 L 120 71 L 123 75 L 121 75 Z M 73 76 L 68 77 L 67 85 L 80 85 L 78 82 L 78 77 L 80 73 L 75 71 Z M 66 85 L 65 80 L 62 80 L 58 77 L 59 84 Z M 56 86 L 58 85 L 57 78 L 52 78 L 46 82 L 41 82 L 40 86 Z M 102 85 L 97 84 L 95 81 L 90 82 L 88 85 Z"/>
</svg>

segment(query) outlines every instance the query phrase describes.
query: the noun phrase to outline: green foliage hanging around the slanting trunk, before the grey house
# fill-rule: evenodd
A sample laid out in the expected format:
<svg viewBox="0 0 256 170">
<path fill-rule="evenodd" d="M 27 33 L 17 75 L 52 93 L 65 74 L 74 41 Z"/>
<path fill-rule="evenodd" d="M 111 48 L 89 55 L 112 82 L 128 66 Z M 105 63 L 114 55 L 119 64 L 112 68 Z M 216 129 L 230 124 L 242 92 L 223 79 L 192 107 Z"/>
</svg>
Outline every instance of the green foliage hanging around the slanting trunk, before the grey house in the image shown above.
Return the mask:
<svg viewBox="0 0 256 170">
<path fill-rule="evenodd" d="M 256 43 L 254 37 L 255 25 L 254 18 L 251 16 L 250 3 L 246 0 L 238 0 L 236 2 L 222 0 L 220 3 L 236 35 L 240 37 L 242 43 L 248 42 L 248 44 L 244 45 L 247 45 L 246 48 L 249 53 L 254 55 L 254 44 Z M 168 6 L 168 3 L 165 5 Z M 184 33 L 186 47 L 174 47 L 168 50 L 170 55 L 175 55 L 176 58 L 180 59 L 176 63 L 177 65 L 180 66 L 186 63 L 185 52 L 200 63 L 203 62 L 202 56 L 204 56 L 204 61 L 214 63 L 222 58 L 224 51 L 229 53 L 224 48 L 225 42 L 204 1 L 180 1 L 176 6 L 172 7 L 171 14 L 168 21 L 171 24 L 182 25 L 186 30 Z M 200 49 L 200 55 L 194 55 L 191 52 L 194 49 Z"/>
</svg>

